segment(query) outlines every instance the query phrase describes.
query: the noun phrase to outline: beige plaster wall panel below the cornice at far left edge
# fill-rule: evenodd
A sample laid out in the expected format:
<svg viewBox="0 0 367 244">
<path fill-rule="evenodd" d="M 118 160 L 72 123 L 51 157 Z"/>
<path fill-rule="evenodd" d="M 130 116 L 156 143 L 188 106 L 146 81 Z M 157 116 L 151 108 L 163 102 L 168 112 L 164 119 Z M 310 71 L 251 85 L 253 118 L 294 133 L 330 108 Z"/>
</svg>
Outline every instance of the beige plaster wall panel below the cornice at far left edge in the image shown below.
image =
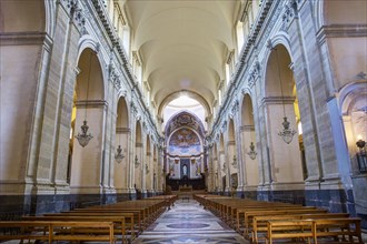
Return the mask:
<svg viewBox="0 0 367 244">
<path fill-rule="evenodd" d="M 24 176 L 33 105 L 37 93 L 37 72 L 41 47 L 0 47 L 1 59 L 1 141 L 0 179 L 20 180 Z"/>
</svg>

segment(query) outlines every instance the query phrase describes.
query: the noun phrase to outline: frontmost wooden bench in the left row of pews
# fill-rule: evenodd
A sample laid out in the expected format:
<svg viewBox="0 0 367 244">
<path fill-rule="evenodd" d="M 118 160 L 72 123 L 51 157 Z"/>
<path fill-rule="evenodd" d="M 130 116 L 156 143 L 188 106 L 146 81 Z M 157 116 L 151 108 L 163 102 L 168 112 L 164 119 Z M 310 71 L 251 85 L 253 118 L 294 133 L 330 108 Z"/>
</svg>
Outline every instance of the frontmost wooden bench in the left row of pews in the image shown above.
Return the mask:
<svg viewBox="0 0 367 244">
<path fill-rule="evenodd" d="M 112 222 L 82 222 L 82 221 L 1 221 L 1 228 L 19 228 L 17 233 L 2 234 L 0 240 L 36 240 L 47 241 L 89 241 L 115 243 Z M 77 233 L 78 230 L 88 228 L 88 233 Z M 108 230 L 107 234 L 98 231 Z M 70 232 L 65 233 L 65 230 Z M 76 233 L 73 233 L 76 231 Z M 93 232 L 97 232 L 96 234 Z"/>
</svg>

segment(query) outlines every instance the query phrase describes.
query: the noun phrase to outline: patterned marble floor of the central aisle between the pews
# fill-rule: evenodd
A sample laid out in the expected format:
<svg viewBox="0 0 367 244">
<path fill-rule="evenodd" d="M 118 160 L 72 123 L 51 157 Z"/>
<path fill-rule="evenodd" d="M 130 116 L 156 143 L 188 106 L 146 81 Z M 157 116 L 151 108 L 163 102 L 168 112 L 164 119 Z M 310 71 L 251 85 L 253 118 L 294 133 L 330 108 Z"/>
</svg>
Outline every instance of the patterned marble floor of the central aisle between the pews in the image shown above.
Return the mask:
<svg viewBox="0 0 367 244">
<path fill-rule="evenodd" d="M 249 243 L 198 202 L 181 200 L 152 223 L 133 244 Z"/>
</svg>

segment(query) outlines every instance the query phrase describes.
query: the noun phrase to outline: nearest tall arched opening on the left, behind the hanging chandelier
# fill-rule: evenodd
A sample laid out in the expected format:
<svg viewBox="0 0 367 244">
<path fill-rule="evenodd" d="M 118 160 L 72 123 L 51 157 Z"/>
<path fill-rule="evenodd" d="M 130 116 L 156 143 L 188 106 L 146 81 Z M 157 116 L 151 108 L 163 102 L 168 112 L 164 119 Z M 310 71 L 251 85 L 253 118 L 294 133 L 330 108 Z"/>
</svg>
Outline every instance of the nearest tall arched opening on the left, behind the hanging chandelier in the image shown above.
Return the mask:
<svg viewBox="0 0 367 244">
<path fill-rule="evenodd" d="M 75 135 L 80 133 L 79 126 L 88 122 L 93 135 L 88 145 L 82 148 L 72 139 L 71 192 L 97 193 L 101 181 L 103 118 L 106 103 L 103 98 L 103 75 L 97 54 L 89 48 L 85 49 L 78 61 L 79 74 L 75 85 L 75 99 L 71 130 Z M 93 118 L 92 120 L 90 118 Z"/>
</svg>

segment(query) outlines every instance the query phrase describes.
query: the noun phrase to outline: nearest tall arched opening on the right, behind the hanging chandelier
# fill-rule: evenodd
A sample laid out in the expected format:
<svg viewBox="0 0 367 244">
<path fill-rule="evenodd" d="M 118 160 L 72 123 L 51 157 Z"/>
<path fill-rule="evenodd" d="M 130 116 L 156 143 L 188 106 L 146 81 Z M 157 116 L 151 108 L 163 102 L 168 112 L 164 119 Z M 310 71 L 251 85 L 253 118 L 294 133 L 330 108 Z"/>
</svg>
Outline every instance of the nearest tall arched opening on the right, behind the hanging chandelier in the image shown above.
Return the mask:
<svg viewBox="0 0 367 244">
<path fill-rule="evenodd" d="M 275 39 L 276 40 L 276 39 Z M 277 41 L 279 42 L 279 40 Z M 304 187 L 302 161 L 300 144 L 296 133 L 295 114 L 295 80 L 292 75 L 291 57 L 284 44 L 275 45 L 267 60 L 265 71 L 264 104 L 266 110 L 266 131 L 269 150 L 269 182 L 274 185 L 292 182 L 295 187 Z M 286 119 L 287 118 L 287 119 Z M 291 142 L 278 135 L 282 131 L 282 122 L 290 122 L 295 131 Z"/>
</svg>

